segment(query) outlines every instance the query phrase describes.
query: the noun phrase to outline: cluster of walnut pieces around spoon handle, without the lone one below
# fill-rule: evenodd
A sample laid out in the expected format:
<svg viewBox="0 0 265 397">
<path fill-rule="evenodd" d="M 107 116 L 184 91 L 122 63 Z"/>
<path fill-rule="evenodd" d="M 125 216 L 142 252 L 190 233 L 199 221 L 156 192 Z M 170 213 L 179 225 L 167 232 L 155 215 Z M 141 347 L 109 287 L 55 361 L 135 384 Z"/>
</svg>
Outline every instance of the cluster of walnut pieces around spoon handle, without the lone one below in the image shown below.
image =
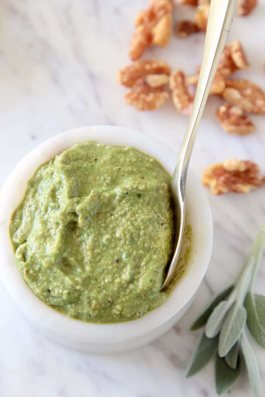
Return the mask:
<svg viewBox="0 0 265 397">
<path fill-rule="evenodd" d="M 179 21 L 175 29 L 178 37 L 187 37 L 198 31 L 206 31 L 210 0 L 177 0 L 179 4 L 195 6 L 195 21 Z M 166 46 L 171 37 L 174 0 L 151 0 L 149 8 L 138 12 L 136 31 L 130 48 L 132 60 L 138 59 L 152 44 Z M 239 0 L 238 13 L 247 15 L 256 5 L 256 0 Z M 217 94 L 226 102 L 216 111 L 216 118 L 222 128 L 237 135 L 247 135 L 255 130 L 247 113 L 265 113 L 263 90 L 244 79 L 230 79 L 228 76 L 239 69 L 248 69 L 249 62 L 239 40 L 224 47 L 216 75 L 209 94 Z M 170 66 L 165 62 L 150 59 L 136 61 L 125 66 L 118 73 L 118 81 L 130 87 L 125 102 L 138 110 L 154 110 L 162 106 L 169 94 L 179 112 L 189 116 L 193 106 L 200 66 L 195 75 L 186 76 L 177 69 L 170 75 Z M 170 75 L 170 77 L 169 77 Z"/>
</svg>

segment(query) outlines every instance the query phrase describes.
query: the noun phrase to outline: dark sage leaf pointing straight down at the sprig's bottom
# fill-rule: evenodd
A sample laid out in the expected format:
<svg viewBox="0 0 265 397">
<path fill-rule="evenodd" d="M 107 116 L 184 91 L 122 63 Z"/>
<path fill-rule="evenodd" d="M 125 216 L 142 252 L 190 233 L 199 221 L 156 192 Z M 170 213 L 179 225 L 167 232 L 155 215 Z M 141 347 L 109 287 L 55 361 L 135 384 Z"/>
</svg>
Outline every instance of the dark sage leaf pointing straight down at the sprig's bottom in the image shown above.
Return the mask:
<svg viewBox="0 0 265 397">
<path fill-rule="evenodd" d="M 225 394 L 236 383 L 242 372 L 242 365 L 239 360 L 236 369 L 230 368 L 224 358 L 216 355 L 215 362 L 215 385 L 216 393 L 221 396 Z"/>
</svg>

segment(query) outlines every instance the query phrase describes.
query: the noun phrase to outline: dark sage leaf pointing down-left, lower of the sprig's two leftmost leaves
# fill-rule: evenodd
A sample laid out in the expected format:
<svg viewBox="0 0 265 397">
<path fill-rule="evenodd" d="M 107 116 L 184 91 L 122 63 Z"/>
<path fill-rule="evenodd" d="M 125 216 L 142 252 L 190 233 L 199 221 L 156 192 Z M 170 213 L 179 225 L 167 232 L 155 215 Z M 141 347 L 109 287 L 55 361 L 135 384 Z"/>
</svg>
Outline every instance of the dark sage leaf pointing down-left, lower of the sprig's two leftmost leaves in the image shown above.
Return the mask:
<svg viewBox="0 0 265 397">
<path fill-rule="evenodd" d="M 201 371 L 210 359 L 216 354 L 218 348 L 218 336 L 215 338 L 208 339 L 203 333 L 199 342 L 195 347 L 195 351 L 191 356 L 185 378 L 189 378 Z"/>
</svg>

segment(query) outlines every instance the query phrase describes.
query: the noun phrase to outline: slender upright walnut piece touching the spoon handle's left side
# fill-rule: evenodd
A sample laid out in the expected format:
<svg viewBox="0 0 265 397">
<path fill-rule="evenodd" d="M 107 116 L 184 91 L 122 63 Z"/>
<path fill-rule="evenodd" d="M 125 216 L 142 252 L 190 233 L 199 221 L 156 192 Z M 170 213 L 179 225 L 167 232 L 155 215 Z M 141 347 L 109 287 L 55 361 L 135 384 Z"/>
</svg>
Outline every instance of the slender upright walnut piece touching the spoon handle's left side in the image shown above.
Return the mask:
<svg viewBox="0 0 265 397">
<path fill-rule="evenodd" d="M 193 106 L 195 89 L 189 85 L 181 69 L 177 69 L 171 73 L 169 85 L 175 107 L 179 112 L 189 116 Z"/>
</svg>

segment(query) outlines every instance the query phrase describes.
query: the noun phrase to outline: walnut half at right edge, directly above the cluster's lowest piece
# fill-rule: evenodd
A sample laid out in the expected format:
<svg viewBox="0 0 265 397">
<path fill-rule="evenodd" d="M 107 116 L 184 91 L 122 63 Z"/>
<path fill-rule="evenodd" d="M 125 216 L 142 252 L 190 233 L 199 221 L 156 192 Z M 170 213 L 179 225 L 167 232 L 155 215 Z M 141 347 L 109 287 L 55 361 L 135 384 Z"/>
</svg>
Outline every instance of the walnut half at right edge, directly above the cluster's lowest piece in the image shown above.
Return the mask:
<svg viewBox="0 0 265 397">
<path fill-rule="evenodd" d="M 222 96 L 230 105 L 239 106 L 245 113 L 265 113 L 265 94 L 260 87 L 245 79 L 226 78 L 225 81 Z"/>
</svg>

